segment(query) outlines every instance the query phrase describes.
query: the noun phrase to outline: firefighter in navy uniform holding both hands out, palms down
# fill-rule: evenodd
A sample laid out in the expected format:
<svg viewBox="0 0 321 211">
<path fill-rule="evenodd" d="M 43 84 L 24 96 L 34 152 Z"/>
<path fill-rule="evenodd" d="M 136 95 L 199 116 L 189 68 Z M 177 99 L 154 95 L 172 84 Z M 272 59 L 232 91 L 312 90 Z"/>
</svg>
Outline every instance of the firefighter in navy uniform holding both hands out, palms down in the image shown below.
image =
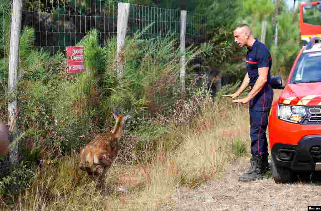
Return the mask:
<svg viewBox="0 0 321 211">
<path fill-rule="evenodd" d="M 247 47 L 247 74 L 234 94 L 223 95 L 223 97 L 231 97 L 234 103 L 249 102 L 251 167 L 239 177 L 239 181 L 247 182 L 261 179 L 269 166 L 266 129 L 273 101 L 273 89 L 270 85 L 272 56 L 265 44 L 253 37 L 247 24 L 236 26 L 233 34 L 234 42 L 239 48 Z M 248 95 L 245 98 L 235 99 L 248 86 L 251 88 Z"/>
</svg>

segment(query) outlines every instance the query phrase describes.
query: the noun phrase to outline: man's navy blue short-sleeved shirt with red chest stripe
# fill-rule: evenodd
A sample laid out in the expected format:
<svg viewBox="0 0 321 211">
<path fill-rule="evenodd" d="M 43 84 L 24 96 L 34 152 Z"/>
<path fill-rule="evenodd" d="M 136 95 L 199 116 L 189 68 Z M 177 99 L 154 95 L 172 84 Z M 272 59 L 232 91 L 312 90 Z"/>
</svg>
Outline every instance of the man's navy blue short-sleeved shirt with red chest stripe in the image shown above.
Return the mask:
<svg viewBox="0 0 321 211">
<path fill-rule="evenodd" d="M 269 72 L 267 75 L 267 84 L 271 80 L 271 66 L 272 66 L 272 56 L 270 51 L 267 49 L 265 44 L 261 43 L 257 39 L 251 47 L 247 48 L 246 55 L 246 69 L 248 77 L 250 78 L 249 85 L 253 86 L 259 77 L 258 68 L 268 67 Z"/>
</svg>

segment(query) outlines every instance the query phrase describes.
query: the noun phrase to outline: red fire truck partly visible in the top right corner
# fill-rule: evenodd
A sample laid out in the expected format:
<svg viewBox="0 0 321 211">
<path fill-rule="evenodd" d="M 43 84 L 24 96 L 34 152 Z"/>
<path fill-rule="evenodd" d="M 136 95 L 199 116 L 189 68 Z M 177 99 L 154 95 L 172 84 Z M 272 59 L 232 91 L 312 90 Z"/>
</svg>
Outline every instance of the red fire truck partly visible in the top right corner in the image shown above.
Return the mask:
<svg viewBox="0 0 321 211">
<path fill-rule="evenodd" d="M 303 45 L 321 36 L 321 1 L 300 4 L 300 30 Z"/>
</svg>

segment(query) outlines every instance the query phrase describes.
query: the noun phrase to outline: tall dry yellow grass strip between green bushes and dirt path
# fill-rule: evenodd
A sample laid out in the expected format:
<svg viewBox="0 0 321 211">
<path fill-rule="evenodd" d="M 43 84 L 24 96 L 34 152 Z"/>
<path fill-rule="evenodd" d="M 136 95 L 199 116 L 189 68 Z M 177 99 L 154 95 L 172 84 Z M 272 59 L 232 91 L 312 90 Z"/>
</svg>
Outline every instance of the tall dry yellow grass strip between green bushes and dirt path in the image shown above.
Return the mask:
<svg viewBox="0 0 321 211">
<path fill-rule="evenodd" d="M 97 189 L 96 181 L 77 168 L 79 153 L 75 152 L 58 163 L 44 161 L 18 203 L 2 207 L 30 211 L 175 207 L 170 196 L 178 186 L 193 188 L 222 173 L 225 165 L 237 158 L 232 146 L 236 142 L 249 146 L 247 106 L 232 104 L 229 99 L 195 103 L 200 110 L 193 123 L 169 130 L 148 161 L 123 165 L 116 160 L 106 175 L 105 188 Z M 166 139 L 175 136 L 183 138 L 179 147 L 165 147 Z"/>
</svg>

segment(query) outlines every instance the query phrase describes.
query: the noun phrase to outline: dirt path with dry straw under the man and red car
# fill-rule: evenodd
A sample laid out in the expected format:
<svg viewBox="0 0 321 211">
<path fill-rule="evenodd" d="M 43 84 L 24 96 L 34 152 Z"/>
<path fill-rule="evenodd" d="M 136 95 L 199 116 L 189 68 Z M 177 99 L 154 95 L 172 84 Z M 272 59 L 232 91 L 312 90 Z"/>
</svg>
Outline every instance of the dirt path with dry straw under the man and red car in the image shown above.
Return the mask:
<svg viewBox="0 0 321 211">
<path fill-rule="evenodd" d="M 172 205 L 161 210 L 308 210 L 321 205 L 321 178 L 296 184 L 275 184 L 271 172 L 263 180 L 240 183 L 238 178 L 249 168 L 249 158 L 241 158 L 226 167 L 225 175 L 208 181 L 195 190 L 178 188 L 171 195 Z M 316 180 L 315 180 L 316 179 Z"/>
</svg>

